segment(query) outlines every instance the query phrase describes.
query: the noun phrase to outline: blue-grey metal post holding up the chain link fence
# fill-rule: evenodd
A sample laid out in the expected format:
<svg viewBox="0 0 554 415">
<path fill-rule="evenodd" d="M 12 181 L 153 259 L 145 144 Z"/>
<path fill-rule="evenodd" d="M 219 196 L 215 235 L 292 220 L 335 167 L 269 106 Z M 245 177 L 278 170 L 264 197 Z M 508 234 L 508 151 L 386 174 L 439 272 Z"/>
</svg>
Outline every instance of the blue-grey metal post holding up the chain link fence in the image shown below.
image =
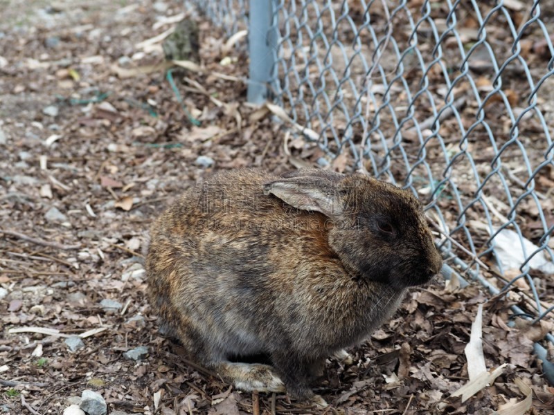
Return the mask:
<svg viewBox="0 0 554 415">
<path fill-rule="evenodd" d="M 273 77 L 277 30 L 273 15 L 274 0 L 250 0 L 248 101 L 260 104 L 269 96 Z"/>
</svg>

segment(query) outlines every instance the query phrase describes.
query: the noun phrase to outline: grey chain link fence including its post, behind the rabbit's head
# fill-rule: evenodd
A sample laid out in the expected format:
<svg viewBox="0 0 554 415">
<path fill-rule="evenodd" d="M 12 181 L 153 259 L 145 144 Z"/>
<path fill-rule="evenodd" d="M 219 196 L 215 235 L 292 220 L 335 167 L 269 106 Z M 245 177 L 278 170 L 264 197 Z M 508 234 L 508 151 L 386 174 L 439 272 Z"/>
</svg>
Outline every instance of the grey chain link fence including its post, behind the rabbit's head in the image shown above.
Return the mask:
<svg viewBox="0 0 554 415">
<path fill-rule="evenodd" d="M 192 3 L 228 35 L 250 18 L 249 100 L 316 131 L 321 165 L 428 203 L 445 273 L 554 317 L 554 0 Z"/>
</svg>

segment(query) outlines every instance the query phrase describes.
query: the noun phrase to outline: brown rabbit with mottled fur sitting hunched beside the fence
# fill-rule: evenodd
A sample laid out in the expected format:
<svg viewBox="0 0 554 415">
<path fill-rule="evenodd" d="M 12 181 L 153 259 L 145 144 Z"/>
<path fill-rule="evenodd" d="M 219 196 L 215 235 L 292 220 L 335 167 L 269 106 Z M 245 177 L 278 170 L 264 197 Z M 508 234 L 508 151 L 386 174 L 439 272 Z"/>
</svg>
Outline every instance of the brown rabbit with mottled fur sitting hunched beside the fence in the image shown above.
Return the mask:
<svg viewBox="0 0 554 415">
<path fill-rule="evenodd" d="M 150 237 L 152 305 L 193 360 L 238 389 L 286 386 L 319 405 L 309 382 L 325 358 L 348 358 L 442 266 L 411 193 L 319 169 L 217 174 Z M 256 354 L 272 365 L 229 361 Z"/>
</svg>

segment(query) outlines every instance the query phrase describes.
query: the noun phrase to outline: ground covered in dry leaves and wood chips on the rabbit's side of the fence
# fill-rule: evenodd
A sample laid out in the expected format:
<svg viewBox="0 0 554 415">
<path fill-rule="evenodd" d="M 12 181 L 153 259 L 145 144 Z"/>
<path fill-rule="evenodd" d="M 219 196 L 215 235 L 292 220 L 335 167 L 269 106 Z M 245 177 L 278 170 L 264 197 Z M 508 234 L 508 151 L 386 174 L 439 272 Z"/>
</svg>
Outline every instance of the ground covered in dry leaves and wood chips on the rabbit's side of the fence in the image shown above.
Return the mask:
<svg viewBox="0 0 554 415">
<path fill-rule="evenodd" d="M 321 151 L 247 104 L 247 57 L 208 21 L 202 72 L 156 66 L 161 44 L 141 42 L 176 23 L 166 17 L 183 12 L 179 1 L 0 8 L 0 414 L 61 414 L 84 389 L 108 413 L 492 414 L 526 399 L 525 385 L 532 413 L 552 413 L 554 389 L 532 353 L 549 327 L 508 327 L 505 299 L 442 278 L 411 291 L 350 350 L 351 365 L 328 360 L 314 385 L 327 409 L 236 391 L 188 362 L 158 333 L 145 295 L 149 223 L 217 170 L 284 172 Z M 479 304 L 486 367 L 507 365 L 462 403 L 451 395 L 468 381 Z M 125 354 L 137 347 L 148 353 Z"/>
</svg>

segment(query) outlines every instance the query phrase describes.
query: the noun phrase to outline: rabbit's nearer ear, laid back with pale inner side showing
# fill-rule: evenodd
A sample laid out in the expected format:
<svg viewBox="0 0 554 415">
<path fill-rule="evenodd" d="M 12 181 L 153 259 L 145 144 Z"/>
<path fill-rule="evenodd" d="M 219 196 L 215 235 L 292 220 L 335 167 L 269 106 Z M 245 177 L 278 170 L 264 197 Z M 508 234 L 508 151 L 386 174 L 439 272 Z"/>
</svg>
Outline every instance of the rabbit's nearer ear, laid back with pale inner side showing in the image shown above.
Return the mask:
<svg viewBox="0 0 554 415">
<path fill-rule="evenodd" d="M 292 177 L 266 183 L 264 194 L 274 194 L 296 209 L 339 216 L 344 210 L 340 192 L 325 178 Z"/>
</svg>

